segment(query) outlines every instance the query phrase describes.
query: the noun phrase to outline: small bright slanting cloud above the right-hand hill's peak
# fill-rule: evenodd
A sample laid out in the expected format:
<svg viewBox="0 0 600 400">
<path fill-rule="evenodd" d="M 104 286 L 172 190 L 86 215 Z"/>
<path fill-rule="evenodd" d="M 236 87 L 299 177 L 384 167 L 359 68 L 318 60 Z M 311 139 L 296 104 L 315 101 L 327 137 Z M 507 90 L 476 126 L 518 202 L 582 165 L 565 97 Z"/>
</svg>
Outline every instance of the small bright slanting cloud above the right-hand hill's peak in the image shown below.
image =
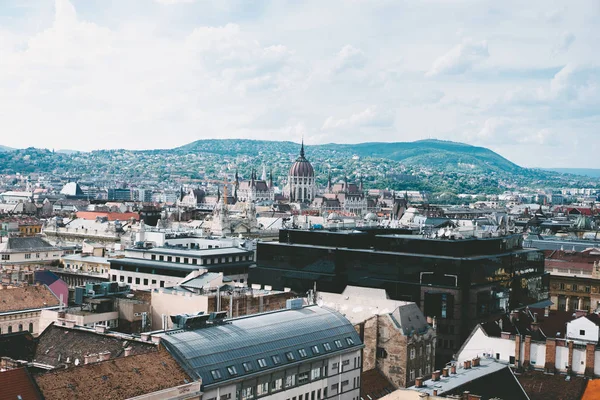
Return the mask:
<svg viewBox="0 0 600 400">
<path fill-rule="evenodd" d="M 437 58 L 425 76 L 463 74 L 490 56 L 487 42 L 473 42 L 465 39 L 463 42 L 443 56 Z"/>
</svg>

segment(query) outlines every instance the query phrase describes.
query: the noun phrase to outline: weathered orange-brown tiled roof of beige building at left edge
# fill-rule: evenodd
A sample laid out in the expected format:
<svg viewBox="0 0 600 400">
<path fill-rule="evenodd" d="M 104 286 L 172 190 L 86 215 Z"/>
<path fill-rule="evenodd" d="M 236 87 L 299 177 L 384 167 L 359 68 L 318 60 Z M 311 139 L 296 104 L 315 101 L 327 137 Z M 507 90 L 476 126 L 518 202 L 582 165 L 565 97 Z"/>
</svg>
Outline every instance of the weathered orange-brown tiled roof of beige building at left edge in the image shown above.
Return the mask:
<svg viewBox="0 0 600 400">
<path fill-rule="evenodd" d="M 0 290 L 0 313 L 58 306 L 60 301 L 46 285 Z"/>
</svg>

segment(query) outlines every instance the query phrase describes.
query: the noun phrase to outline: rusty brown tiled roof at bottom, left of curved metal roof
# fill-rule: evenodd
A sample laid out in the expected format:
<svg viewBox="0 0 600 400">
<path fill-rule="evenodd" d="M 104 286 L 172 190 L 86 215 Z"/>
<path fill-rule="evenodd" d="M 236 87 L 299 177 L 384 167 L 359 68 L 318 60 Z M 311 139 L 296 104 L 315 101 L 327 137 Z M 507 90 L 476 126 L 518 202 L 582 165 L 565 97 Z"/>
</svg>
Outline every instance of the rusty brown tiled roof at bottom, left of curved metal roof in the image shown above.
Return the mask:
<svg viewBox="0 0 600 400">
<path fill-rule="evenodd" d="M 168 352 L 156 351 L 36 377 L 46 400 L 121 400 L 191 381 Z"/>
</svg>

